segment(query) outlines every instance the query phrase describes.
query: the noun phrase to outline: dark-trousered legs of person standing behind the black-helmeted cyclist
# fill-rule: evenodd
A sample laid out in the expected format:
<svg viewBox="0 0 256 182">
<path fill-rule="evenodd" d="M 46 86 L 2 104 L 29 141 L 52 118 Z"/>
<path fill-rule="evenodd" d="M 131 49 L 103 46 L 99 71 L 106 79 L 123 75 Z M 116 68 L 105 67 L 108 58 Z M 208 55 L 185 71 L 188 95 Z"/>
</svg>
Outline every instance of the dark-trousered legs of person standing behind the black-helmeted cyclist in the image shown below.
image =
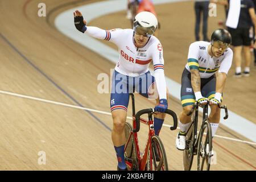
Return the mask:
<svg viewBox="0 0 256 182">
<path fill-rule="evenodd" d="M 200 40 L 199 32 L 200 32 L 200 22 L 201 22 L 201 14 L 203 13 L 203 40 L 209 42 L 207 35 L 207 27 L 208 27 L 208 10 L 209 10 L 209 0 L 195 0 L 195 13 L 196 13 L 196 27 L 195 27 L 195 35 L 196 41 Z"/>
</svg>

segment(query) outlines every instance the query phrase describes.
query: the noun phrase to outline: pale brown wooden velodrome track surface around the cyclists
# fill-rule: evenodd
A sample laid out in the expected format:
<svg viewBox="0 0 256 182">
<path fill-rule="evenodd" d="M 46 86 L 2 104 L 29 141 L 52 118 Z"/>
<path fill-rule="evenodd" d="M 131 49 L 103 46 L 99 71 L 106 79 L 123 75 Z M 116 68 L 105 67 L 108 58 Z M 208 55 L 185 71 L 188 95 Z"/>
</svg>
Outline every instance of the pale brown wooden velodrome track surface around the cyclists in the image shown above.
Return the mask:
<svg viewBox="0 0 256 182">
<path fill-rule="evenodd" d="M 44 1 L 47 16 L 40 18 L 37 15 L 40 1 L 0 1 L 0 90 L 109 112 L 110 94 L 97 92 L 97 76 L 109 75 L 114 64 L 60 34 L 53 23 L 61 11 L 92 2 L 96 1 L 47 0 Z M 222 9 L 218 7 L 216 18 L 209 18 L 209 34 L 224 17 Z M 164 48 L 166 76 L 180 82 L 188 46 L 194 41 L 193 2 L 159 5 L 156 12 L 162 24 L 159 39 Z M 110 14 L 89 25 L 127 28 L 130 23 L 125 15 L 125 11 Z M 256 123 L 255 69 L 251 65 L 251 76 L 247 78 L 233 78 L 233 73 L 234 67 L 226 82 L 224 103 Z M 1 170 L 116 169 L 110 115 L 2 93 L 0 100 Z M 135 101 L 137 110 L 154 106 L 154 102 L 137 94 Z M 180 101 L 170 98 L 169 102 L 170 109 L 179 114 Z M 130 107 L 128 113 L 131 115 Z M 167 119 L 166 124 L 171 123 Z M 141 146 L 146 131 L 142 127 L 139 133 Z M 170 170 L 183 169 L 182 152 L 175 148 L 176 134 L 177 131 L 171 132 L 167 127 L 160 134 Z M 223 125 L 217 134 L 248 140 Z M 255 145 L 216 137 L 213 146 L 217 164 L 212 165 L 212 170 L 256 169 Z M 39 151 L 46 152 L 45 165 L 38 164 Z"/>
</svg>

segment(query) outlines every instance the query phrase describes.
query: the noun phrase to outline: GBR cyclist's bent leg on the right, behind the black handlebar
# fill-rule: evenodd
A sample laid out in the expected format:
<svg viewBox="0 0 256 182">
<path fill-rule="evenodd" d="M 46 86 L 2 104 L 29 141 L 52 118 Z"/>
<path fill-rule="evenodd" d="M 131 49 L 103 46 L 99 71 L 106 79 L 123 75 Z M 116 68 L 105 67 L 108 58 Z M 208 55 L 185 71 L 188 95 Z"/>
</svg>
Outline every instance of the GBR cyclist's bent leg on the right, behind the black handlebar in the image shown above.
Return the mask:
<svg viewBox="0 0 256 182">
<path fill-rule="evenodd" d="M 151 75 L 150 71 L 135 78 L 135 90 L 143 97 L 156 100 L 156 105 L 159 104 L 159 96 L 155 85 L 155 77 Z M 166 94 L 168 102 L 168 92 Z M 154 130 L 156 135 L 159 135 L 165 115 L 166 114 L 164 113 L 154 114 Z"/>
</svg>

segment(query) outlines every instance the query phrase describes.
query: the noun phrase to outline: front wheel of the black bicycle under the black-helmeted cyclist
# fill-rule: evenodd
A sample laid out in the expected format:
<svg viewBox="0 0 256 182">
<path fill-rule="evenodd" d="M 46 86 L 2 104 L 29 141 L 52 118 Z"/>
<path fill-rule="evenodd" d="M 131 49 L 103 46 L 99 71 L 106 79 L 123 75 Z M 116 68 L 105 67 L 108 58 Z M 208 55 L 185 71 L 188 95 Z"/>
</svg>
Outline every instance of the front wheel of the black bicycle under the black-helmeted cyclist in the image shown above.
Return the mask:
<svg viewBox="0 0 256 182">
<path fill-rule="evenodd" d="M 206 133 L 206 135 L 204 135 Z M 197 146 L 197 170 L 209 171 L 210 160 L 212 157 L 212 129 L 206 120 L 201 127 L 199 134 L 199 143 Z"/>
</svg>

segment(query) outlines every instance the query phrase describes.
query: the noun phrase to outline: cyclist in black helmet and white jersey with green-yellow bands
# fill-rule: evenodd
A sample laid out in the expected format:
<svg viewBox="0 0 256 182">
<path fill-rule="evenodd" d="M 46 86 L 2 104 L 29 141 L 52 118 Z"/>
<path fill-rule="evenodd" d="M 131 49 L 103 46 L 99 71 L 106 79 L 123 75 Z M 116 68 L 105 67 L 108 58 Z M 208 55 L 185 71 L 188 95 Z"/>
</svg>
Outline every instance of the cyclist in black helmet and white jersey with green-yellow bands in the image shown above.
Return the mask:
<svg viewBox="0 0 256 182">
<path fill-rule="evenodd" d="M 210 101 L 209 122 L 212 137 L 220 122 L 220 109 L 226 76 L 232 65 L 233 52 L 229 48 L 231 35 L 224 29 L 213 32 L 211 42 L 194 42 L 189 46 L 188 63 L 181 78 L 181 104 L 183 111 L 179 115 L 180 131 L 176 138 L 176 147 L 185 149 L 185 133 L 191 123 L 187 116 L 195 101 L 206 104 Z"/>
</svg>

